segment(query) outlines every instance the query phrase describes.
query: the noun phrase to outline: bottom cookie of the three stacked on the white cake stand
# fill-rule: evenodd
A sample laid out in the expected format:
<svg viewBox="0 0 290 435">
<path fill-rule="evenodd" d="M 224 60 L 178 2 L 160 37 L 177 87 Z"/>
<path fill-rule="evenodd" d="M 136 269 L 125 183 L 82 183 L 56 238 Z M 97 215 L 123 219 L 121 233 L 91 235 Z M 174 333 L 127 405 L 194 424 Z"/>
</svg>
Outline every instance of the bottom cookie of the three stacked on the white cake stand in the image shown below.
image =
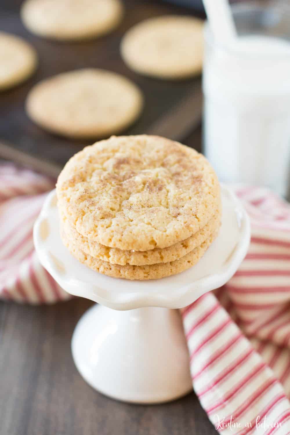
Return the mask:
<svg viewBox="0 0 290 435">
<path fill-rule="evenodd" d="M 98 258 L 93 258 L 90 255 L 85 254 L 80 248 L 77 247 L 77 245 L 68 240 L 64 232 L 61 231 L 63 244 L 81 263 L 102 274 L 109 275 L 114 278 L 126 278 L 130 280 L 159 279 L 183 272 L 194 266 L 194 264 L 197 264 L 216 237 L 217 231 L 211 234 L 210 237 L 200 246 L 193 249 L 193 251 L 190 251 L 179 260 L 170 261 L 169 263 L 158 263 L 144 266 L 132 266 L 130 264 L 127 264 L 126 266 L 120 266 L 119 264 L 111 264 L 108 261 L 99 260 Z"/>
</svg>

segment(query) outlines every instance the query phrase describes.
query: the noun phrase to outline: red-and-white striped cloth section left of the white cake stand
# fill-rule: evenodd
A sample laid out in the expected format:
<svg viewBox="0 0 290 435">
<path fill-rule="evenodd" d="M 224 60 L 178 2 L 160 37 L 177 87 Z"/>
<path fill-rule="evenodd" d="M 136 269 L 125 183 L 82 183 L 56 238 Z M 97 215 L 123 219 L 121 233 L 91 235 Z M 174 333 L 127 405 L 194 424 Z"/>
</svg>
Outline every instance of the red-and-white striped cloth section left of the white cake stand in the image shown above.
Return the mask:
<svg viewBox="0 0 290 435">
<path fill-rule="evenodd" d="M 40 265 L 33 224 L 55 181 L 12 164 L 0 164 L 0 297 L 31 304 L 70 295 Z"/>
</svg>

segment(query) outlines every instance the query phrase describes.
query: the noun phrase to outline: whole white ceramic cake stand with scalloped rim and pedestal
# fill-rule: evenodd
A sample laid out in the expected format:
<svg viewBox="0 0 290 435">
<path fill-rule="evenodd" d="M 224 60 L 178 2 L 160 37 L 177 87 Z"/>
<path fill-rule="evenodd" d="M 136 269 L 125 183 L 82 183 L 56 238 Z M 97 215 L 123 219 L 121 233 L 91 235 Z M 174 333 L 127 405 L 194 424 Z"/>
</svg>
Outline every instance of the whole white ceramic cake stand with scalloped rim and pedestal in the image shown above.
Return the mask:
<svg viewBox="0 0 290 435">
<path fill-rule="evenodd" d="M 128 281 L 73 258 L 60 240 L 55 191 L 47 196 L 33 233 L 40 262 L 70 294 L 100 304 L 80 318 L 72 338 L 74 362 L 93 388 L 135 403 L 167 402 L 192 390 L 180 313 L 171 308 L 225 284 L 250 241 L 249 218 L 227 187 L 222 201 L 219 236 L 196 266 L 159 280 Z"/>
</svg>

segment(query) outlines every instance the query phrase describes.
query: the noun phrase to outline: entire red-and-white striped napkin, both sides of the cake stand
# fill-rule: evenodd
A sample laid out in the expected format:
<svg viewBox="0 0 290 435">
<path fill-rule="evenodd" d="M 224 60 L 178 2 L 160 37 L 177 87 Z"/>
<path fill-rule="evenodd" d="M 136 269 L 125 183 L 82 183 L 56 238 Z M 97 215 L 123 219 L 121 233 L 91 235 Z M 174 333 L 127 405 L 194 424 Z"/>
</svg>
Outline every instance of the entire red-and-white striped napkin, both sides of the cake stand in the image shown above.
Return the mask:
<svg viewBox="0 0 290 435">
<path fill-rule="evenodd" d="M 39 264 L 33 222 L 54 180 L 0 165 L 0 297 L 69 299 Z M 290 434 L 290 204 L 237 188 L 252 224 L 246 259 L 222 288 L 182 311 L 193 388 L 217 431 Z"/>
</svg>

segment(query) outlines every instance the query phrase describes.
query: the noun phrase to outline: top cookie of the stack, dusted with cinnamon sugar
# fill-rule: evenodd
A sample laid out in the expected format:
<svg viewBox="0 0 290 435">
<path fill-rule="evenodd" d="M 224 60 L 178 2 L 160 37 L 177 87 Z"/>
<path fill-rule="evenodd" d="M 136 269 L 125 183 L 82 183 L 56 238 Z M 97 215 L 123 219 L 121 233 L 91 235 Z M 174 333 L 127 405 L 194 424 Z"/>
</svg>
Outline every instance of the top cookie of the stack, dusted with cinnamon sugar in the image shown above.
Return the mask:
<svg viewBox="0 0 290 435">
<path fill-rule="evenodd" d="M 183 241 L 220 207 L 202 154 L 159 136 L 113 136 L 75 154 L 57 181 L 58 207 L 80 234 L 148 251 Z"/>
</svg>

